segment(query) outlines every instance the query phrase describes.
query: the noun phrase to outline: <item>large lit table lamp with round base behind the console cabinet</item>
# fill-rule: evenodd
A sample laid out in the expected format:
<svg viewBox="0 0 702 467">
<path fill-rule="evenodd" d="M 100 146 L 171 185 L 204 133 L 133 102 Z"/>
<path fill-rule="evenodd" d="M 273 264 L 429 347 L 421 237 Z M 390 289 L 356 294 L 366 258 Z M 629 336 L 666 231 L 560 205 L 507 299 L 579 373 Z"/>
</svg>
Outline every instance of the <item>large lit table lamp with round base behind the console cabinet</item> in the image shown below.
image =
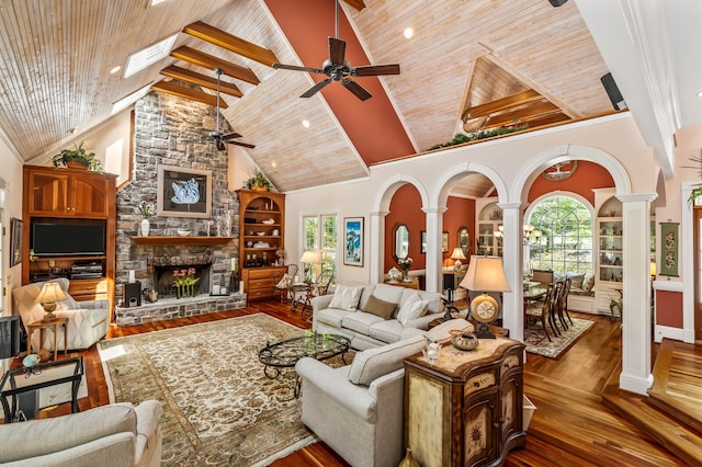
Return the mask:
<svg viewBox="0 0 702 467">
<path fill-rule="evenodd" d="M 495 339 L 490 324 L 499 316 L 499 304 L 488 292 L 510 292 L 500 257 L 472 255 L 468 271 L 461 281 L 461 287 L 483 292 L 471 301 L 471 316 L 478 323 L 479 339 Z"/>
</svg>

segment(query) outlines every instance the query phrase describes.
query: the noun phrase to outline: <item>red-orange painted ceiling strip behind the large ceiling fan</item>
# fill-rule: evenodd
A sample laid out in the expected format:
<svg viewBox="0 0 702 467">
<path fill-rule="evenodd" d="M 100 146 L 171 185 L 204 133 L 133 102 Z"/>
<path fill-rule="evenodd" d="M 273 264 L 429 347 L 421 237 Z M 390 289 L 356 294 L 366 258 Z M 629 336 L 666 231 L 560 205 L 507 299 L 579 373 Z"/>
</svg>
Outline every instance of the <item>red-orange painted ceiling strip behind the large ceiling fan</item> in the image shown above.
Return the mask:
<svg viewBox="0 0 702 467">
<path fill-rule="evenodd" d="M 265 4 L 303 65 L 320 68 L 324 60 L 329 58 L 328 37 L 335 35 L 335 3 L 330 0 L 265 0 Z M 401 31 L 397 32 L 397 34 L 401 33 Z M 339 8 L 339 38 L 347 42 L 346 59 L 351 66 L 371 65 L 341 8 Z M 301 73 L 302 71 L 279 70 L 276 72 Z M 312 77 L 315 82 L 327 78 L 325 75 Z M 399 75 L 384 79 L 403 78 Z M 328 84 L 320 92 L 366 166 L 415 153 L 416 150 L 378 78 L 364 77 L 354 78 L 354 80 L 373 94 L 373 98 L 359 101 L 339 82 Z M 296 100 L 299 96 L 291 95 L 290 99 Z M 363 118 L 359 118 L 359 115 L 363 115 Z"/>
</svg>

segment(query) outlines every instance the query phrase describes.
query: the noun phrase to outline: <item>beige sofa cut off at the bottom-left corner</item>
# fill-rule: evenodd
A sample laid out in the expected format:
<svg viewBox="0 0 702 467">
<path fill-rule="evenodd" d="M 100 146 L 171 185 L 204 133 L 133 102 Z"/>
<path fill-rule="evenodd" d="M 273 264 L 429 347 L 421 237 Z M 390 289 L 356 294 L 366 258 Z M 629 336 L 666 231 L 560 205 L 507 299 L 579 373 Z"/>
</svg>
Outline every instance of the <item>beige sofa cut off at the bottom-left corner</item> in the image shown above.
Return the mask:
<svg viewBox="0 0 702 467">
<path fill-rule="evenodd" d="M 113 403 L 84 412 L 0 424 L 3 466 L 161 465 L 163 409 L 157 400 L 137 407 Z"/>
</svg>

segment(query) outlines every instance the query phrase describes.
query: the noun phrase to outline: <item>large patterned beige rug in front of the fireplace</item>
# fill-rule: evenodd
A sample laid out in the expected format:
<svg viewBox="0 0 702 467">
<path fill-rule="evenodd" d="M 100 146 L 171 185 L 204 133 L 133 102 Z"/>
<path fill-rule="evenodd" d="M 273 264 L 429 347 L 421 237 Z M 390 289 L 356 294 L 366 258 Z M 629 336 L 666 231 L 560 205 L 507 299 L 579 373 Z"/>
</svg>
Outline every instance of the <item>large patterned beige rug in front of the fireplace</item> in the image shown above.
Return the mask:
<svg viewBox="0 0 702 467">
<path fill-rule="evenodd" d="M 270 379 L 258 361 L 267 342 L 299 332 L 258 314 L 111 339 L 99 351 L 111 400 L 163 406 L 162 465 L 267 465 L 315 441 L 294 369 Z"/>
</svg>

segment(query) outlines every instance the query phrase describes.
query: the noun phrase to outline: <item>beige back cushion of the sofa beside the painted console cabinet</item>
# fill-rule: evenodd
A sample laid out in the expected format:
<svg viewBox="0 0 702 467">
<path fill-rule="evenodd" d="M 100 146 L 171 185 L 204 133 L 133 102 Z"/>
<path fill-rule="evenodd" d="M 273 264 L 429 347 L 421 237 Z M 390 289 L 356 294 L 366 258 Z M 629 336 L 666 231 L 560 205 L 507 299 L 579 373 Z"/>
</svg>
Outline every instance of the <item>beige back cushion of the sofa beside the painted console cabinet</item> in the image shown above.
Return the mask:
<svg viewBox="0 0 702 467">
<path fill-rule="evenodd" d="M 403 368 L 403 361 L 421 352 L 426 342 L 424 338 L 416 337 L 359 352 L 351 363 L 349 380 L 370 386 L 376 378 Z"/>
</svg>

